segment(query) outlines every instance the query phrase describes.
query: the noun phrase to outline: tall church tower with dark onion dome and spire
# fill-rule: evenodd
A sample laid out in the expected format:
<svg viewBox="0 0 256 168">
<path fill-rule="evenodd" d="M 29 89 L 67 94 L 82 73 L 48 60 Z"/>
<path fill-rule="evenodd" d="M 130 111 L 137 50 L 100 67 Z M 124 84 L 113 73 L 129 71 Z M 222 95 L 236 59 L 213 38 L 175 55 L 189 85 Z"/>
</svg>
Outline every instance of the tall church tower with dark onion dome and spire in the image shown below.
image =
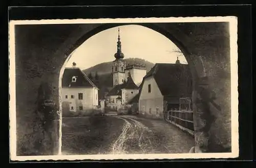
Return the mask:
<svg viewBox="0 0 256 168">
<path fill-rule="evenodd" d="M 120 85 L 124 82 L 125 74 L 124 74 L 124 68 L 125 68 L 125 61 L 123 60 L 124 55 L 121 52 L 121 41 L 120 41 L 120 32 L 118 28 L 118 41 L 117 41 L 117 52 L 114 55 L 115 61 L 113 61 L 113 86 Z"/>
</svg>

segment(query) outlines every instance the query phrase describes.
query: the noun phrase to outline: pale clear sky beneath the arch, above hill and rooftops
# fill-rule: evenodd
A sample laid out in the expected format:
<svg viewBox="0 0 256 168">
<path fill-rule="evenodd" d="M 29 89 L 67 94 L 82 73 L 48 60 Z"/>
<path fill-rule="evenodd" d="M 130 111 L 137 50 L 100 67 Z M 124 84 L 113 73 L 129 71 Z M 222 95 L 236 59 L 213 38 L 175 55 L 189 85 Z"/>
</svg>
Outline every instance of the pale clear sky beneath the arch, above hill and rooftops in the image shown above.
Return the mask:
<svg viewBox="0 0 256 168">
<path fill-rule="evenodd" d="M 162 34 L 143 26 L 126 25 L 104 30 L 84 41 L 72 53 L 66 67 L 87 69 L 102 62 L 114 61 L 117 51 L 118 28 L 124 58 L 141 58 L 152 63 L 175 63 L 177 56 L 187 64 L 178 47 Z"/>
</svg>

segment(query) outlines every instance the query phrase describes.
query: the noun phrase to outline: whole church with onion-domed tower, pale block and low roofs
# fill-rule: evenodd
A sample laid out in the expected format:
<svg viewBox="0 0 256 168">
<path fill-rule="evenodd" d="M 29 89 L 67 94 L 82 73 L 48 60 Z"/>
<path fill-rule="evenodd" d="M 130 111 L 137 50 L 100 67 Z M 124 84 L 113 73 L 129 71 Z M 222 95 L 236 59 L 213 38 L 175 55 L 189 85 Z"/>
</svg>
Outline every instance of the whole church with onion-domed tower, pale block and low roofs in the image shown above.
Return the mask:
<svg viewBox="0 0 256 168">
<path fill-rule="evenodd" d="M 117 110 L 117 102 L 129 103 L 138 93 L 143 77 L 146 75 L 145 65 L 134 63 L 126 65 L 121 51 L 120 30 L 118 29 L 117 52 L 114 54 L 112 74 L 113 87 L 106 94 L 106 106 Z"/>
</svg>

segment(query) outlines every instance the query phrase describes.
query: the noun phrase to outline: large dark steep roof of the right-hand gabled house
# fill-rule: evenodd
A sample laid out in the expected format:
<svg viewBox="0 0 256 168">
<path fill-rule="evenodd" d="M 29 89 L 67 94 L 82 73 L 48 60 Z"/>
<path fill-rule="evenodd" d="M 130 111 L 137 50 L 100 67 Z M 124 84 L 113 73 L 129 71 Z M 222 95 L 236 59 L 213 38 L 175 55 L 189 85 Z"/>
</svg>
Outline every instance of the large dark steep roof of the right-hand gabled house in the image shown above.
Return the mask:
<svg viewBox="0 0 256 168">
<path fill-rule="evenodd" d="M 145 75 L 143 81 L 152 76 L 162 95 L 180 97 L 181 95 L 191 94 L 191 89 L 188 88 L 188 82 L 192 78 L 187 64 L 156 63 Z"/>
</svg>

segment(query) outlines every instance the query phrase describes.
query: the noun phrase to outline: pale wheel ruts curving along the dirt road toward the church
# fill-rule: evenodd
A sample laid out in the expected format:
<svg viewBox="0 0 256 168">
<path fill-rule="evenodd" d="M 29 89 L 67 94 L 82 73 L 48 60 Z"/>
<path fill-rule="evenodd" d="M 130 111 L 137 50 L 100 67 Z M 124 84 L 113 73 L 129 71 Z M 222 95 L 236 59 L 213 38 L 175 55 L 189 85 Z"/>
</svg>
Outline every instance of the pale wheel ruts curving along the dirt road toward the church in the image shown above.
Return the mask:
<svg viewBox="0 0 256 168">
<path fill-rule="evenodd" d="M 127 116 L 114 116 L 122 119 L 121 134 L 112 145 L 112 154 L 149 153 L 152 150 L 150 134 L 152 131 L 142 123 Z"/>
</svg>

